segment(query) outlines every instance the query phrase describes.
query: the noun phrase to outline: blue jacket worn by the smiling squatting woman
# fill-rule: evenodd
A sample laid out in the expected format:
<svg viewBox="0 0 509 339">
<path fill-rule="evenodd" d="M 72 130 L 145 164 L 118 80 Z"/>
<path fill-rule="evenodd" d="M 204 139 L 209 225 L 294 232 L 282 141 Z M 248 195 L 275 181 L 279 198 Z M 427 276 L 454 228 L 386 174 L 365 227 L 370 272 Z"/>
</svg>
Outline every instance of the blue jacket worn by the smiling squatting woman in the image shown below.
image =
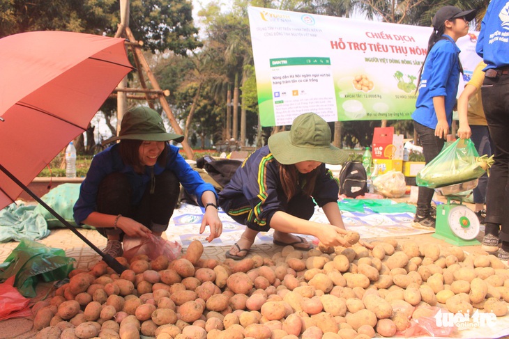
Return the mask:
<svg viewBox="0 0 509 339">
<path fill-rule="evenodd" d="M 199 173 L 192 170 L 185 159 L 178 154 L 178 148 L 174 145 L 169 145 L 166 166 L 164 168 L 159 164 L 153 166 L 154 175 L 158 175 L 165 170 L 175 173 L 178 181 L 190 194 L 197 197 L 200 205 L 202 204 L 204 191 L 213 191 L 215 194 L 214 187 L 204 182 Z M 136 173 L 132 166 L 123 163 L 119 153 L 119 144 L 117 143 L 103 150 L 92 159 L 89 172 L 86 173 L 86 178 L 79 189 L 79 198 L 74 205 L 74 219 L 77 225 L 82 224 L 89 214 L 96 211 L 99 184 L 102 179 L 114 172 L 124 173 L 128 176 L 132 187 L 132 205 L 137 205 L 142 199 L 145 188 L 151 180 L 151 168 L 146 168 L 143 174 Z"/>
</svg>

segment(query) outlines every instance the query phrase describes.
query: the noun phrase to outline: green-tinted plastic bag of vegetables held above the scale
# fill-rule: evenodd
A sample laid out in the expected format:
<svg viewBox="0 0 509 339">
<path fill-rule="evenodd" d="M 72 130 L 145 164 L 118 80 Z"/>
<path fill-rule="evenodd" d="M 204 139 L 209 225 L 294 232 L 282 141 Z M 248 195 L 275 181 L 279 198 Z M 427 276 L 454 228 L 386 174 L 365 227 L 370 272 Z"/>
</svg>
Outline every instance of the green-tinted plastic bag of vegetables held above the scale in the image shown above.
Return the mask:
<svg viewBox="0 0 509 339">
<path fill-rule="evenodd" d="M 457 139 L 444 145 L 439 155 L 417 173 L 416 184 L 433 189 L 480 178 L 486 171 L 478 160 L 489 159 L 479 158 L 476 145 L 470 139 Z"/>
</svg>

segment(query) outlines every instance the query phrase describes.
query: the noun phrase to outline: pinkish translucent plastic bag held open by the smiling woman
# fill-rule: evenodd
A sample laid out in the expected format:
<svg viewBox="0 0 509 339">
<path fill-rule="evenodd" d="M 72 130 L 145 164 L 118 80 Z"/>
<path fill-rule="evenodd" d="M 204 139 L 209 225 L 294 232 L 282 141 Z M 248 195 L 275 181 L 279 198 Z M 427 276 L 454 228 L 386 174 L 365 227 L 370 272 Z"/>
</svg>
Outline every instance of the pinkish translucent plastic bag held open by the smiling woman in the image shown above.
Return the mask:
<svg viewBox="0 0 509 339">
<path fill-rule="evenodd" d="M 150 260 L 165 255 L 171 261 L 178 258 L 181 250 L 182 246 L 178 242 L 169 242 L 152 234 L 147 238 L 123 237 L 123 257 L 127 260 L 131 260 L 135 255 L 145 254 Z"/>
</svg>

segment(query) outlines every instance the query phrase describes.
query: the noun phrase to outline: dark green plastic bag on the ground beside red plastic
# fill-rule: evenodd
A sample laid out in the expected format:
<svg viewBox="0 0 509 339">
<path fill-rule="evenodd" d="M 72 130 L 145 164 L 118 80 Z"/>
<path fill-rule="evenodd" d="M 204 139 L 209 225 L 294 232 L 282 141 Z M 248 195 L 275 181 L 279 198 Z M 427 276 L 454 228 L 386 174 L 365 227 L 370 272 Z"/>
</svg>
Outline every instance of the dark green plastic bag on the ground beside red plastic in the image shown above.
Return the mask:
<svg viewBox="0 0 509 339">
<path fill-rule="evenodd" d="M 14 286 L 24 297 L 36 297 L 39 280 L 59 281 L 73 270 L 74 258 L 66 257 L 62 249 L 53 249 L 30 239 L 20 244 L 0 264 L 0 281 L 15 276 Z"/>
</svg>

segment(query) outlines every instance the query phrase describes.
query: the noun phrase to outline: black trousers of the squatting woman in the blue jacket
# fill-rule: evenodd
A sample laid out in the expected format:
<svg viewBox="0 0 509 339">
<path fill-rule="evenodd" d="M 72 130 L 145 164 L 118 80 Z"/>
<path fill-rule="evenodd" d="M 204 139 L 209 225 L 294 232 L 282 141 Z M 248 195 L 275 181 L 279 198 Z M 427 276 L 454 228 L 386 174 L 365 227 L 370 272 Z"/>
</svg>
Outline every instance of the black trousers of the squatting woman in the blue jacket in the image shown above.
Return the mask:
<svg viewBox="0 0 509 339">
<path fill-rule="evenodd" d="M 142 199 L 132 204 L 132 188 L 123 173 L 112 173 L 102 180 L 97 196 L 97 211 L 105 214 L 122 214 L 142 223 L 153 232 L 164 232 L 175 210 L 180 193 L 180 182 L 172 171 L 164 171 L 154 176 L 154 189 L 151 182 L 145 187 Z M 120 229 L 97 228 L 100 234 L 121 235 Z"/>
</svg>

